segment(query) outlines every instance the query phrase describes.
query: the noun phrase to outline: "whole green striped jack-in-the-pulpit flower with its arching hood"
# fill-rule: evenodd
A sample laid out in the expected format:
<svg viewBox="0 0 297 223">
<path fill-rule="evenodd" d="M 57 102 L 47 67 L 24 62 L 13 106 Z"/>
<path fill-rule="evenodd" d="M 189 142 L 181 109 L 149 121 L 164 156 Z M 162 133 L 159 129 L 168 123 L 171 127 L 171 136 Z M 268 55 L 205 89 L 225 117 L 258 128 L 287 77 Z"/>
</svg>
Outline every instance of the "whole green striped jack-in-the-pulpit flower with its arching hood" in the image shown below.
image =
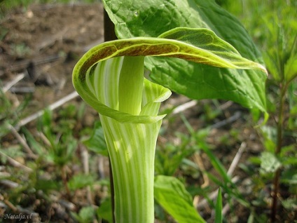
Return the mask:
<svg viewBox="0 0 297 223">
<path fill-rule="evenodd" d="M 110 41 L 83 55 L 74 68 L 73 83 L 102 122 L 113 171 L 117 223 L 154 221 L 154 156 L 165 116 L 158 115 L 158 110 L 171 91 L 144 78 L 146 56 L 265 72 L 262 65 L 242 58 L 209 29 L 176 28 L 158 38 Z"/>
</svg>

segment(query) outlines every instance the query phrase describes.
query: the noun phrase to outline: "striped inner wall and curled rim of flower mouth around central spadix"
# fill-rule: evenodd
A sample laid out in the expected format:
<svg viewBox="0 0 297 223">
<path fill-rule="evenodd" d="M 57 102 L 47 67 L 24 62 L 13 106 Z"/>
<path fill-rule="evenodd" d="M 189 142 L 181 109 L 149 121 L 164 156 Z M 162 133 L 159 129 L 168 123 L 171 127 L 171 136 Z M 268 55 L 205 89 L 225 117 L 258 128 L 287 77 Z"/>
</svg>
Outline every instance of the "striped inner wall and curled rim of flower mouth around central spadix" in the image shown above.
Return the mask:
<svg viewBox="0 0 297 223">
<path fill-rule="evenodd" d="M 144 79 L 141 113 L 138 116 L 118 111 L 118 79 L 123 57 L 111 58 L 95 63 L 85 73 L 83 82 L 74 86 L 79 95 L 99 114 L 120 123 L 155 123 L 165 115 L 158 116 L 160 102 L 171 95 L 171 91 Z"/>
</svg>

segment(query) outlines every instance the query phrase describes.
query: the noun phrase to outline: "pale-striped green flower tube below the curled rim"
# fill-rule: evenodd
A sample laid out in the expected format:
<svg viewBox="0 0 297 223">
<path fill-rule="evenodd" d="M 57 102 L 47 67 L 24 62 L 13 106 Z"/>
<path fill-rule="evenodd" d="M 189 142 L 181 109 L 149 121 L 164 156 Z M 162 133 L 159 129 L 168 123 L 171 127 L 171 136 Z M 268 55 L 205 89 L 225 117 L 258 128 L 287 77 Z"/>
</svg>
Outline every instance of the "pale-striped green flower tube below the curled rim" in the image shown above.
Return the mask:
<svg viewBox="0 0 297 223">
<path fill-rule="evenodd" d="M 100 116 L 113 170 L 116 223 L 154 220 L 153 179 L 161 121 L 118 123 Z"/>
</svg>

